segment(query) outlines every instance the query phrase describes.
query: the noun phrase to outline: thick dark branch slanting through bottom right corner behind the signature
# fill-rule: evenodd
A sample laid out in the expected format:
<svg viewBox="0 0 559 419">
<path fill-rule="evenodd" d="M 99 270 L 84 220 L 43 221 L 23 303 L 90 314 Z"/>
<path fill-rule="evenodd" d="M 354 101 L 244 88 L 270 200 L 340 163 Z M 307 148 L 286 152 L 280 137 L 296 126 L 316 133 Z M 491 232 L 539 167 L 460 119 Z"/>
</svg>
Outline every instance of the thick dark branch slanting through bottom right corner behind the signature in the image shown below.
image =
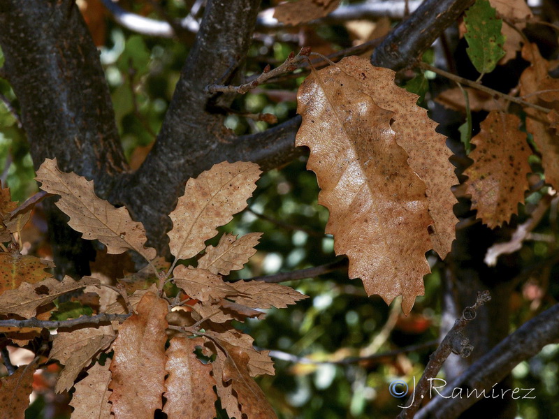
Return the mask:
<svg viewBox="0 0 559 419">
<path fill-rule="evenodd" d="M 559 304 L 555 304 L 551 309 L 532 318 L 503 339 L 500 344 L 470 366 L 464 374 L 452 383 L 447 383 L 440 394 L 448 397 L 455 388 L 469 390 L 475 388 L 477 394 L 485 390 L 486 395 L 491 395 L 493 385 L 502 381 L 519 362 L 536 355 L 544 346 L 558 341 Z M 474 396 L 435 397 L 414 418 L 457 418 L 460 413 L 478 401 L 479 399 Z"/>
</svg>

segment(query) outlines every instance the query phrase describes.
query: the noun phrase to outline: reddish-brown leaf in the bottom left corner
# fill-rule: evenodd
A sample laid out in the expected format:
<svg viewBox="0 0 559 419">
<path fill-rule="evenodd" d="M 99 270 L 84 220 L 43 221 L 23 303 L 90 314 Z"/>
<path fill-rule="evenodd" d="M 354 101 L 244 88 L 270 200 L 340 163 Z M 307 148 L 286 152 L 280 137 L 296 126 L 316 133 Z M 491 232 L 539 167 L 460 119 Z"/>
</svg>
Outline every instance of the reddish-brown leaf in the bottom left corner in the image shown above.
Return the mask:
<svg viewBox="0 0 559 419">
<path fill-rule="evenodd" d="M 29 395 L 33 390 L 35 362 L 22 365 L 15 372 L 0 380 L 0 409 L 2 418 L 24 419 L 29 406 Z"/>
</svg>

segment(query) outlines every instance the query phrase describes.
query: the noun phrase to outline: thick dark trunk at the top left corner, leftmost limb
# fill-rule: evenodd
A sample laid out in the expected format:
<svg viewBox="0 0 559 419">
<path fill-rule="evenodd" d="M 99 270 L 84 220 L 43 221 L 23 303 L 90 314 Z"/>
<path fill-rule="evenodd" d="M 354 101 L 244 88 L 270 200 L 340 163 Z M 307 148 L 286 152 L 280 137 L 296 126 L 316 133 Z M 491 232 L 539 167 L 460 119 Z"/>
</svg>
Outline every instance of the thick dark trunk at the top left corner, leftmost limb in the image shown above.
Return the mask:
<svg viewBox="0 0 559 419">
<path fill-rule="evenodd" d="M 106 195 L 126 163 L 99 51 L 75 2 L 2 1 L 0 27 L 35 167 L 56 157 Z"/>
</svg>

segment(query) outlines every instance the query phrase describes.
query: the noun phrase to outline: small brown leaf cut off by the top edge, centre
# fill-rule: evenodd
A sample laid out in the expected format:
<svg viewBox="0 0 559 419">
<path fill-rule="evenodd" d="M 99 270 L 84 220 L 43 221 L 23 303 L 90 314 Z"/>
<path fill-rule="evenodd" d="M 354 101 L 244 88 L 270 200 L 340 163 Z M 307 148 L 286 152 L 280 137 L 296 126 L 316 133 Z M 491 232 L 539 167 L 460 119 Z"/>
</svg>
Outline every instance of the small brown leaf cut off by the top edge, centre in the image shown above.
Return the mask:
<svg viewBox="0 0 559 419">
<path fill-rule="evenodd" d="M 340 0 L 286 1 L 275 7 L 274 17 L 283 24 L 298 25 L 332 13 Z"/>
</svg>

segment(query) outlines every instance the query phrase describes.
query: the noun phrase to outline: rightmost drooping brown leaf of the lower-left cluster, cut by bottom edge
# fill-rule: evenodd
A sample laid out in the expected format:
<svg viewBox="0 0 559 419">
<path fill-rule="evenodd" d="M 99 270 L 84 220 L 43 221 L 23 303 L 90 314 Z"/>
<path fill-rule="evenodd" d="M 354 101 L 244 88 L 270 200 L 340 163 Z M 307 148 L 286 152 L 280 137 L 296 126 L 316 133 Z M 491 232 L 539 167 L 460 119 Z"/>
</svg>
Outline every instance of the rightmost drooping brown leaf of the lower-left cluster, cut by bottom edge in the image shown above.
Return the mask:
<svg viewBox="0 0 559 419">
<path fill-rule="evenodd" d="M 217 358 L 212 362 L 217 394 L 229 417 L 251 419 L 277 418 L 262 389 L 248 373 L 249 355 L 239 348 L 219 341 Z"/>
</svg>

